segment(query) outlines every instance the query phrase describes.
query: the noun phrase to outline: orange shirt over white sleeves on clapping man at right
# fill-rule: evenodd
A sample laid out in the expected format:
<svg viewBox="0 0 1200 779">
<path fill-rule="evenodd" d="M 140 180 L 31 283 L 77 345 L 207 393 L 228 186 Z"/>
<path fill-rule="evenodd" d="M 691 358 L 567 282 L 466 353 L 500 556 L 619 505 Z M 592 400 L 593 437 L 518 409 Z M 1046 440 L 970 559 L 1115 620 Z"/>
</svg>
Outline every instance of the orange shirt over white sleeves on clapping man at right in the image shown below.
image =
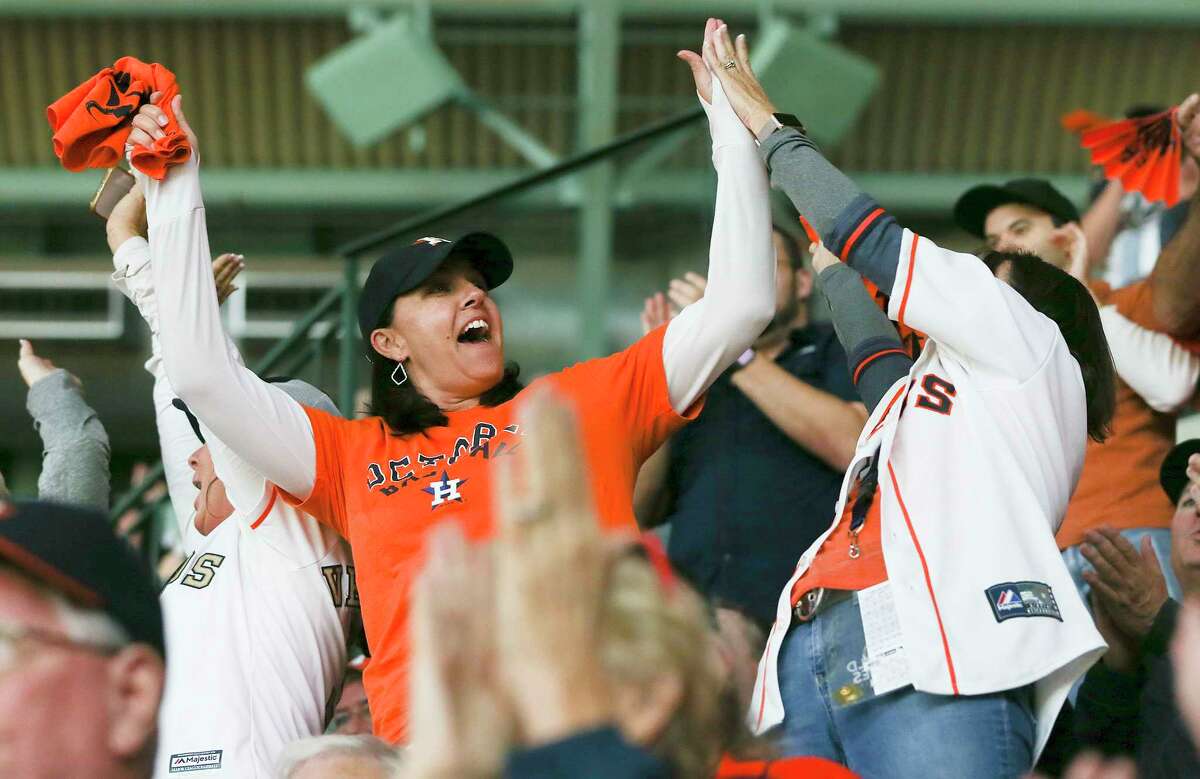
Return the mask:
<svg viewBox="0 0 1200 779">
<path fill-rule="evenodd" d="M 1147 330 L 1162 331 L 1154 317 L 1150 282 L 1142 280 L 1114 290 L 1103 282 L 1092 286 L 1100 305 Z M 1195 341 L 1176 341 L 1200 352 Z M 1087 441 L 1084 472 L 1058 528 L 1058 549 L 1075 546 L 1087 531 L 1109 525 L 1117 529 L 1169 527 L 1175 507 L 1158 485 L 1158 468 L 1175 445 L 1175 414 L 1156 412 L 1117 377 L 1117 403 L 1108 441 Z"/>
</svg>

